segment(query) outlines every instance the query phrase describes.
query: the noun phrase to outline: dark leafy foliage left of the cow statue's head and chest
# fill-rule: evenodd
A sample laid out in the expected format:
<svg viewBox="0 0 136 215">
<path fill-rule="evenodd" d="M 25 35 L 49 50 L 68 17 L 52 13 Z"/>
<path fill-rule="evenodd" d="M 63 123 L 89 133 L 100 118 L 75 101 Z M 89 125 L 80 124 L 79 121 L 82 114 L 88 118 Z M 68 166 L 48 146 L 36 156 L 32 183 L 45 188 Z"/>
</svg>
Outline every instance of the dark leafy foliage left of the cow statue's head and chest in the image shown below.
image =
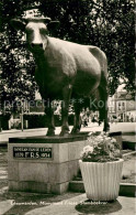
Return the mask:
<svg viewBox="0 0 136 215">
<path fill-rule="evenodd" d="M 35 64 L 33 56 L 25 47 L 22 32 L 15 32 L 10 25 L 12 18 L 22 18 L 27 4 L 33 1 L 2 0 L 0 2 L 0 65 L 3 79 L 1 103 L 13 109 L 22 98 L 34 99 L 36 84 L 34 80 Z"/>
</svg>

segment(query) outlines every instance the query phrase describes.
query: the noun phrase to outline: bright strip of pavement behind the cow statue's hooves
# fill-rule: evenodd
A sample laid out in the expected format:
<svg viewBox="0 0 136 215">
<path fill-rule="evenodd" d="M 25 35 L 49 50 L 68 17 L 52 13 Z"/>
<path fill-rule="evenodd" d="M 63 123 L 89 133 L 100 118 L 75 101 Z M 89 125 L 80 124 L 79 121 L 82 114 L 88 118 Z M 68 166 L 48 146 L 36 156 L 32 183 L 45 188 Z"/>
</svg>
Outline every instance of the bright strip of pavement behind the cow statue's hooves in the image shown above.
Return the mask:
<svg viewBox="0 0 136 215">
<path fill-rule="evenodd" d="M 72 126 L 69 127 L 71 130 Z M 88 127 L 82 127 L 81 131 L 102 131 L 103 130 L 103 123 L 99 126 L 97 122 L 92 123 L 90 122 Z M 136 141 L 136 123 L 135 122 L 113 122 L 110 125 L 110 131 L 116 132 L 122 131 L 125 136 L 125 140 L 135 142 Z M 9 138 L 20 138 L 20 137 L 37 137 L 37 136 L 45 136 L 47 132 L 47 128 L 38 128 L 38 129 L 25 129 L 23 131 L 21 130 L 3 130 L 0 132 L 0 143 L 4 143 L 9 141 Z M 55 135 L 59 135 L 60 127 L 56 127 Z M 132 135 L 127 135 L 132 133 Z M 124 138 L 123 137 L 123 138 Z"/>
</svg>

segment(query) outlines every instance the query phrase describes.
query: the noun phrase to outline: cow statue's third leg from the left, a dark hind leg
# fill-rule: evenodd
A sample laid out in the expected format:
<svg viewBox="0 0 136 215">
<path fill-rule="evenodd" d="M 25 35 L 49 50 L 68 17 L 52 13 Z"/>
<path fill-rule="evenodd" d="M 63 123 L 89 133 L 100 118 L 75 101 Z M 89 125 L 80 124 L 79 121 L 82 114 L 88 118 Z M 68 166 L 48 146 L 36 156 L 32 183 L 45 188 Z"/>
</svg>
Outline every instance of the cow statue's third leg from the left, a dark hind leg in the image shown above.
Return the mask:
<svg viewBox="0 0 136 215">
<path fill-rule="evenodd" d="M 71 133 L 79 133 L 81 128 L 80 104 L 75 103 L 75 123 Z"/>
</svg>

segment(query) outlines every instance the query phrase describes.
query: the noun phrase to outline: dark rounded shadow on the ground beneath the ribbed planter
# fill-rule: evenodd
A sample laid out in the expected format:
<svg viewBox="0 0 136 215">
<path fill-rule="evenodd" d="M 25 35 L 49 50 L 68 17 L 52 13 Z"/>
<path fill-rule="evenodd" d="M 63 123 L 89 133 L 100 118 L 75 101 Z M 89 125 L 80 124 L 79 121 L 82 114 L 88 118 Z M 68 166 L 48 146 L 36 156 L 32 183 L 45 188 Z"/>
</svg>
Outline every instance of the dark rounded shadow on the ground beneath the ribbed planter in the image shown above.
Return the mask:
<svg viewBox="0 0 136 215">
<path fill-rule="evenodd" d="M 111 202 L 93 202 L 91 200 L 87 200 L 75 207 L 79 213 L 83 214 L 110 214 L 113 212 L 118 212 L 122 209 L 122 205 L 120 202 L 111 201 Z"/>
</svg>

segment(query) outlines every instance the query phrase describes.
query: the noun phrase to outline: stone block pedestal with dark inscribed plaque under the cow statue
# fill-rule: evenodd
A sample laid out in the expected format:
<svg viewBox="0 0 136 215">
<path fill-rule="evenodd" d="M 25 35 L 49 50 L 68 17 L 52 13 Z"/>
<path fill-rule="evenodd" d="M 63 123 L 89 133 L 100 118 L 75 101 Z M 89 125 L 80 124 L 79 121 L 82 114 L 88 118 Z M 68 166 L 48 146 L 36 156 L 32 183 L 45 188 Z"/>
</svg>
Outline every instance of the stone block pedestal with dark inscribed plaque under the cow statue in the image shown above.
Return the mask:
<svg viewBox="0 0 136 215">
<path fill-rule="evenodd" d="M 10 138 L 9 190 L 61 194 L 77 175 L 88 135 Z"/>
</svg>

